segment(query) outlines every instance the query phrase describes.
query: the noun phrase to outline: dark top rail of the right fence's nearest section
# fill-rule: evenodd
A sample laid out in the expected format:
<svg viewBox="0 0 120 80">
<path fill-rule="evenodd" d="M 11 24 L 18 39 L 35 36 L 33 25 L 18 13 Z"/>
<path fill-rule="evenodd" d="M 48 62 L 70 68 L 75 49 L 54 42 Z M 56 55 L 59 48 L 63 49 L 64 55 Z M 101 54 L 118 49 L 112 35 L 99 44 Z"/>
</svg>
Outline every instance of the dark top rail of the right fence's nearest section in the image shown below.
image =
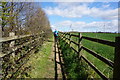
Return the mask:
<svg viewBox="0 0 120 80">
<path fill-rule="evenodd" d="M 94 41 L 94 42 L 98 42 L 98 43 L 101 43 L 101 44 L 105 44 L 105 45 L 108 45 L 108 46 L 115 47 L 115 42 L 111 42 L 111 41 L 106 41 L 106 40 L 101 40 L 101 39 L 96 39 L 96 38 L 90 38 L 90 37 L 85 37 L 85 36 L 82 36 L 82 39 L 87 39 L 87 40 L 90 40 L 90 41 Z"/>
</svg>

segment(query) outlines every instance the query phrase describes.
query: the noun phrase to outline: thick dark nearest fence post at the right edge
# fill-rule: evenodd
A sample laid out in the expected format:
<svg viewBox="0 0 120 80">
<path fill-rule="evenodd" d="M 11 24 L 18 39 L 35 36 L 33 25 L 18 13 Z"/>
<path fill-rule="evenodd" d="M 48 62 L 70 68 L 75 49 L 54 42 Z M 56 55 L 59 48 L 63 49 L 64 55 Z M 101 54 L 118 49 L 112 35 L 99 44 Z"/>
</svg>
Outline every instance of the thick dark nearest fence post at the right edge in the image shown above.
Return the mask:
<svg viewBox="0 0 120 80">
<path fill-rule="evenodd" d="M 120 37 L 116 37 L 115 43 L 113 80 L 120 80 Z"/>
</svg>

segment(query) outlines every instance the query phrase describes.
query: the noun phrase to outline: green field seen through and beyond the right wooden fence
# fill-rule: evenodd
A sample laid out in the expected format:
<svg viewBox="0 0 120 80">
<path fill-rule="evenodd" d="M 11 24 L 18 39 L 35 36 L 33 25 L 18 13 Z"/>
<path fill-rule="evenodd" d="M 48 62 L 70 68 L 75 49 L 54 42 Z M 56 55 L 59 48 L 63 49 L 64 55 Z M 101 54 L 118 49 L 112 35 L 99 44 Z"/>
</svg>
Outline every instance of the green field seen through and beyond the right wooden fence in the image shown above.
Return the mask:
<svg viewBox="0 0 120 80">
<path fill-rule="evenodd" d="M 78 33 L 73 33 L 78 35 Z M 115 42 L 115 37 L 118 36 L 116 33 L 82 33 L 82 36 L 86 37 L 92 37 L 92 38 L 97 38 L 97 39 L 102 39 L 102 40 L 107 40 L 107 41 L 112 41 Z M 67 36 L 69 37 L 69 36 Z M 71 40 L 78 42 L 78 38 L 72 37 Z M 93 41 L 85 40 L 82 39 L 81 41 L 82 45 L 97 52 L 99 55 L 114 61 L 114 47 L 107 46 L 104 44 L 96 43 Z M 71 44 L 72 47 L 74 47 L 76 50 L 78 49 L 76 45 Z M 104 73 L 108 78 L 112 78 L 113 75 L 113 68 L 109 67 L 102 61 L 98 60 L 88 52 L 82 50 L 81 51 L 82 55 L 84 55 L 89 61 L 91 61 L 102 73 Z M 94 77 L 94 78 L 99 78 L 97 74 L 88 66 L 88 74 L 89 77 Z"/>
</svg>

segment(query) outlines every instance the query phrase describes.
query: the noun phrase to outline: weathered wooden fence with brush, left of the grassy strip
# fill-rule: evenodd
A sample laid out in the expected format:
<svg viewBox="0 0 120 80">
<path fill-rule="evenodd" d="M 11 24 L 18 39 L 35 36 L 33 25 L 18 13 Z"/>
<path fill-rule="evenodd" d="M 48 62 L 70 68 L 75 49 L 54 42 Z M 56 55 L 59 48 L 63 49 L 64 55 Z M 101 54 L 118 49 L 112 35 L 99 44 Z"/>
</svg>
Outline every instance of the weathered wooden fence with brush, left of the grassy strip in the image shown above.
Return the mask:
<svg viewBox="0 0 120 80">
<path fill-rule="evenodd" d="M 2 79 L 17 78 L 29 68 L 25 64 L 30 55 L 37 51 L 37 47 L 42 45 L 44 34 L 1 38 Z"/>
</svg>

